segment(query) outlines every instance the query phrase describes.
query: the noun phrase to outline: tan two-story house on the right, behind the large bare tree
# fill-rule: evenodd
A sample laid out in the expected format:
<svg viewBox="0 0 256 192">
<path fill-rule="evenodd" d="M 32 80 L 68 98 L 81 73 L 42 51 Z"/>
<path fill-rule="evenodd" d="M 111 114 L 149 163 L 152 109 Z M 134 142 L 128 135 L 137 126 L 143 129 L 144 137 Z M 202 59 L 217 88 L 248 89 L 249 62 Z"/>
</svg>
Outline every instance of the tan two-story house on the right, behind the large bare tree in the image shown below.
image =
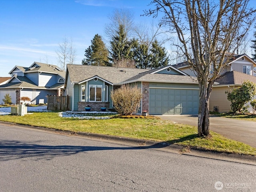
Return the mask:
<svg viewBox="0 0 256 192">
<path fill-rule="evenodd" d="M 173 65 L 189 76 L 196 76 L 194 70 L 187 63 Z M 254 68 L 256 62 L 246 54 L 234 55 L 233 59 L 220 72 L 220 77 L 215 80 L 209 100 L 210 111 L 229 112 L 231 102 L 227 99 L 225 91 L 233 90 L 242 85 L 246 80 L 256 83 Z M 252 108 L 249 108 L 252 112 Z"/>
</svg>

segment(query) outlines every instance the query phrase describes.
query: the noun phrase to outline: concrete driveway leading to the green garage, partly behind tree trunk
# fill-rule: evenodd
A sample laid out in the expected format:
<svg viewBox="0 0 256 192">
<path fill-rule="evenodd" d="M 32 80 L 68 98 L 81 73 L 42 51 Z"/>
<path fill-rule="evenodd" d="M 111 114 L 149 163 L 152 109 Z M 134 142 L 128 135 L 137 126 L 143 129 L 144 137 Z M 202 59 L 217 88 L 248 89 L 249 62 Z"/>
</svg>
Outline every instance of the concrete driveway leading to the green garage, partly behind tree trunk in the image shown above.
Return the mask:
<svg viewBox="0 0 256 192">
<path fill-rule="evenodd" d="M 197 115 L 158 115 L 164 120 L 197 126 Z M 210 130 L 256 148 L 256 122 L 210 116 Z"/>
</svg>

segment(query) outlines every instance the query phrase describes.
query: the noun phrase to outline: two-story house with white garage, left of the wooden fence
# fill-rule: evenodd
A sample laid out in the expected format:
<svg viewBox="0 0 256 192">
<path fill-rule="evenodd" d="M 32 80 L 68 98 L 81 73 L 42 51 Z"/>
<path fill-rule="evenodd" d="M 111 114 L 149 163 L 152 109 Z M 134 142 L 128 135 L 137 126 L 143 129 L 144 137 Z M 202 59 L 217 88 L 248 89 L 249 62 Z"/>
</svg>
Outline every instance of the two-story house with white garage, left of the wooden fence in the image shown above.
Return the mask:
<svg viewBox="0 0 256 192">
<path fill-rule="evenodd" d="M 65 71 L 58 66 L 34 62 L 30 67 L 15 66 L 6 84 L 0 85 L 0 103 L 6 94 L 12 103 L 20 104 L 22 97 L 30 98 L 29 104 L 47 103 L 47 95 L 62 95 Z"/>
</svg>

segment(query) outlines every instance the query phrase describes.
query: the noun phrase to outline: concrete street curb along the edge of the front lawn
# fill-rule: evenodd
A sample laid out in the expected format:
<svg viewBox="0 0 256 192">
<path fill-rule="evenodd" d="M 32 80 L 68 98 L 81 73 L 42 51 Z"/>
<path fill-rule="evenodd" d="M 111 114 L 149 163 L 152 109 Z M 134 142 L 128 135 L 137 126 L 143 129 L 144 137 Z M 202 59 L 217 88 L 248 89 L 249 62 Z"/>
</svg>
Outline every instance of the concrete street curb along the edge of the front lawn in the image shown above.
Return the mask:
<svg viewBox="0 0 256 192">
<path fill-rule="evenodd" d="M 196 156 L 202 158 L 211 158 L 216 160 L 224 160 L 229 162 L 237 162 L 243 164 L 251 164 L 256 165 L 256 156 L 248 156 L 242 154 L 230 154 L 225 152 L 215 152 L 215 151 L 207 151 L 207 150 L 200 150 L 194 148 L 188 148 L 186 146 L 168 144 L 167 142 L 156 142 L 152 140 L 143 140 L 143 139 L 136 139 L 136 138 L 126 138 L 120 136 L 112 136 L 112 135 L 104 135 L 104 134 L 96 134 L 96 133 L 89 133 L 89 132 L 72 132 L 72 131 L 65 131 L 65 130 L 58 130 L 54 128 L 44 128 L 38 126 L 28 126 L 22 125 L 12 122 L 3 122 L 0 121 L 0 124 L 5 126 L 14 126 L 18 128 L 26 128 L 26 129 L 33 129 L 33 130 L 42 130 L 45 132 L 55 133 L 55 134 L 64 134 L 70 136 L 83 136 L 85 138 L 101 140 L 103 142 L 111 142 L 116 144 L 123 144 L 127 146 L 134 146 L 139 148 L 145 149 L 153 149 L 153 150 L 161 150 L 165 152 L 172 152 L 181 155 L 188 155 L 188 156 Z M 184 150 L 185 149 L 185 150 Z M 184 151 L 182 151 L 184 150 Z"/>
</svg>

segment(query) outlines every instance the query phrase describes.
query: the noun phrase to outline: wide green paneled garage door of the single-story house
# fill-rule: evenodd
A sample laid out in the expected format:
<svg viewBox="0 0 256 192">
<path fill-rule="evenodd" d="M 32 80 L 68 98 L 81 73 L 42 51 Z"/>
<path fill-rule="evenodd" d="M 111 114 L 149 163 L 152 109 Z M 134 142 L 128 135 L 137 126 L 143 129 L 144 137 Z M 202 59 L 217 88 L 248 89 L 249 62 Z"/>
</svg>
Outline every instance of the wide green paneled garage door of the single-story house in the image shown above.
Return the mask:
<svg viewBox="0 0 256 192">
<path fill-rule="evenodd" d="M 149 114 L 198 114 L 199 90 L 149 89 Z"/>
</svg>

